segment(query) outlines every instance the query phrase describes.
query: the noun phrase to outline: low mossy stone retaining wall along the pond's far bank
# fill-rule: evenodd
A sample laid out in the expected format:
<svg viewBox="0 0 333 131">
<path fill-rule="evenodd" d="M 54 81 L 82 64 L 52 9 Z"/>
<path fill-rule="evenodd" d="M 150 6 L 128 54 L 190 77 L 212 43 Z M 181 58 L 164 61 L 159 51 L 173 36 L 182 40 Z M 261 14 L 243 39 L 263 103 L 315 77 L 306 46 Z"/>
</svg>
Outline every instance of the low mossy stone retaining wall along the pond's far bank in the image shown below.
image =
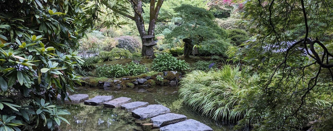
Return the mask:
<svg viewBox="0 0 333 131">
<path fill-rule="evenodd" d="M 158 79 L 158 76 L 163 78 L 163 80 Z M 98 80 L 98 82 L 92 82 L 93 79 L 85 77 L 82 80 L 87 83 L 82 83 L 85 86 L 90 87 L 103 87 L 109 90 L 120 90 L 120 89 L 132 89 L 135 86 L 155 86 L 155 85 L 170 85 L 176 86 L 179 79 L 181 78 L 181 73 L 177 71 L 165 71 L 160 72 L 155 75 L 139 75 L 134 77 L 122 77 L 114 79 L 104 79 Z"/>
</svg>

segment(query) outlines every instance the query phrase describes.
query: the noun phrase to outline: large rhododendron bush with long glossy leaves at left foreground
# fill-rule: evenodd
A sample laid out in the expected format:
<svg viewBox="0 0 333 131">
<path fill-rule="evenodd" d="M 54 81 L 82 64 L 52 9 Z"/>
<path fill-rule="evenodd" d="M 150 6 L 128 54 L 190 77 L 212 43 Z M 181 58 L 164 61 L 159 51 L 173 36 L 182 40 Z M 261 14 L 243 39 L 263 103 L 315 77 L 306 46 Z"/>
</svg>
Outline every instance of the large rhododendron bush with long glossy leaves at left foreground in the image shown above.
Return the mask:
<svg viewBox="0 0 333 131">
<path fill-rule="evenodd" d="M 55 129 L 68 111 L 54 99 L 73 91 L 83 63 L 72 51 L 84 29 L 76 0 L 0 1 L 0 114 L 5 130 Z M 12 123 L 12 124 L 10 124 Z M 24 124 L 21 125 L 21 124 Z"/>
</svg>

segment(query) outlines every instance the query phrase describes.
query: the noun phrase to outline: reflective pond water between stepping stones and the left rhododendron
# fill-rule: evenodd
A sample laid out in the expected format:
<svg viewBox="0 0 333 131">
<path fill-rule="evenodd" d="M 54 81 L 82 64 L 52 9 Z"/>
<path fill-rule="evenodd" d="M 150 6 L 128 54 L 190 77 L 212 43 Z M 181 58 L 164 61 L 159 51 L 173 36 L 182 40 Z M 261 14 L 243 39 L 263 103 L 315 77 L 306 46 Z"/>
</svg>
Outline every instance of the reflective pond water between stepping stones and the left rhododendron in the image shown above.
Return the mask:
<svg viewBox="0 0 333 131">
<path fill-rule="evenodd" d="M 111 109 L 103 106 L 89 106 L 84 104 L 68 105 L 65 108 L 72 112 L 66 119 L 71 125 L 61 125 L 66 131 L 103 131 L 117 129 L 133 129 L 136 127 L 130 112 L 120 108 Z"/>
</svg>

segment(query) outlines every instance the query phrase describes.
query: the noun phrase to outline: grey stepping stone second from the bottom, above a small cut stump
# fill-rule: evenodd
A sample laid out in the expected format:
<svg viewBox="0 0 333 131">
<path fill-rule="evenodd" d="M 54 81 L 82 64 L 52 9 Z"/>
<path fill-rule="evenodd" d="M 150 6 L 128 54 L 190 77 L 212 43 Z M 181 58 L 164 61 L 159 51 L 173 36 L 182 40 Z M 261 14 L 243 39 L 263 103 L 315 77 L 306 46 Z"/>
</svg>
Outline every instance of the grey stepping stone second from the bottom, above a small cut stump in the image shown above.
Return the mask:
<svg viewBox="0 0 333 131">
<path fill-rule="evenodd" d="M 154 127 L 163 127 L 184 120 L 187 120 L 187 117 L 185 115 L 175 113 L 166 113 L 150 119 Z"/>
</svg>

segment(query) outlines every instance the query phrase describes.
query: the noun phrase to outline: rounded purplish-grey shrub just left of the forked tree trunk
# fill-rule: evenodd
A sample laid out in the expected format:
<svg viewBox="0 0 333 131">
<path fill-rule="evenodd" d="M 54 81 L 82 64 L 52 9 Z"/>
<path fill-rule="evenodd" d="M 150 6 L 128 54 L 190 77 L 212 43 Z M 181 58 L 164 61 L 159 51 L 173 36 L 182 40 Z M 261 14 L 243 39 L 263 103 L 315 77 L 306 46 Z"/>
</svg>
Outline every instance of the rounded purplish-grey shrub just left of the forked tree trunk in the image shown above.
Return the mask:
<svg viewBox="0 0 333 131">
<path fill-rule="evenodd" d="M 141 49 L 141 42 L 133 36 L 121 36 L 115 38 L 118 41 L 118 48 L 125 48 L 129 50 L 131 53 Z"/>
</svg>

